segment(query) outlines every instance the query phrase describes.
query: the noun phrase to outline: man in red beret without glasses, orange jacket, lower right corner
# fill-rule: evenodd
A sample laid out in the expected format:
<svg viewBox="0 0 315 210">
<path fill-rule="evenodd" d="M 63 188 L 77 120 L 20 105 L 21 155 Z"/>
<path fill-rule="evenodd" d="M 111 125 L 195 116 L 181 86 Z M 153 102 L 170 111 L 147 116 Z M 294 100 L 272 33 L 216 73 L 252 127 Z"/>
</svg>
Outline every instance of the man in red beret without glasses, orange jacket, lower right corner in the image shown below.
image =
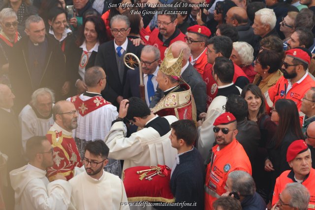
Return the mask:
<svg viewBox="0 0 315 210">
<path fill-rule="evenodd" d="M 286 161 L 292 170 L 285 171 L 276 180 L 272 206 L 280 200 L 287 183 L 298 182 L 310 192 L 309 210 L 315 209 L 315 169 L 312 168 L 311 151 L 304 140 L 293 141 L 286 153 Z M 279 203 L 279 202 L 278 202 Z"/>
</svg>

